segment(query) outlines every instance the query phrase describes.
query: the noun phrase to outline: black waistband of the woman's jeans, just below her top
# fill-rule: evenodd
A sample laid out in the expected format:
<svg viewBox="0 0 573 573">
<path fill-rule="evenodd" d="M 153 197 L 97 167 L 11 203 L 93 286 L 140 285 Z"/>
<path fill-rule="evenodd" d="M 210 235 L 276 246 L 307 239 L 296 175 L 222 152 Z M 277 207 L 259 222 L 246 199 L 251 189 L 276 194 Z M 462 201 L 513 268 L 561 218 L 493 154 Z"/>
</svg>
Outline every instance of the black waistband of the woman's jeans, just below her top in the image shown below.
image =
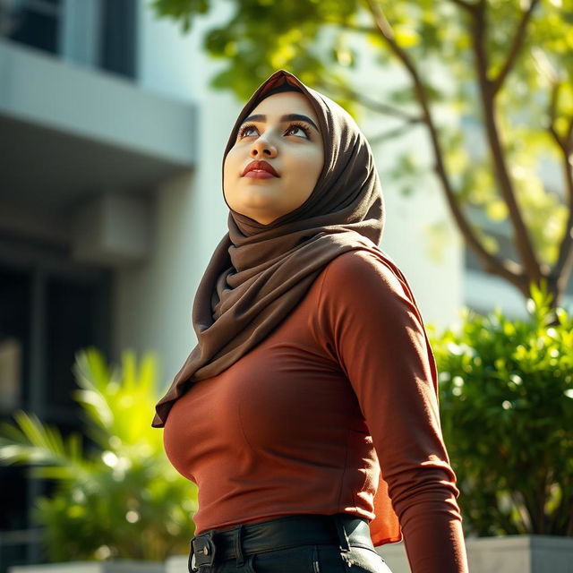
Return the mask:
<svg viewBox="0 0 573 573">
<path fill-rule="evenodd" d="M 374 551 L 368 521 L 347 513 L 334 515 L 294 515 L 261 523 L 243 524 L 226 530 L 210 529 L 191 540 L 188 569 L 236 559 L 242 565 L 244 556 L 270 552 L 297 545 L 337 544 L 341 551 L 364 547 Z"/>
</svg>

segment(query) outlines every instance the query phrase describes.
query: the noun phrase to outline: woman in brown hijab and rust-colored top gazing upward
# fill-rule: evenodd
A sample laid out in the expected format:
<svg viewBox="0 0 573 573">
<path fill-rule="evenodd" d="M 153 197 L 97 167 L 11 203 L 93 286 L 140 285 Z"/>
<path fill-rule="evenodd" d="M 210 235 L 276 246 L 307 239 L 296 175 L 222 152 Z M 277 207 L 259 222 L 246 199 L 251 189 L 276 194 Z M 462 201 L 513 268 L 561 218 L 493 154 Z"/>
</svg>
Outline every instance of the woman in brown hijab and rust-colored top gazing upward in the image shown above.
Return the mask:
<svg viewBox="0 0 573 573">
<path fill-rule="evenodd" d="M 388 573 L 374 545 L 402 536 L 413 573 L 466 571 L 432 349 L 377 246 L 360 129 L 279 70 L 236 120 L 223 192 L 199 342 L 152 422 L 198 484 L 190 571 Z"/>
</svg>

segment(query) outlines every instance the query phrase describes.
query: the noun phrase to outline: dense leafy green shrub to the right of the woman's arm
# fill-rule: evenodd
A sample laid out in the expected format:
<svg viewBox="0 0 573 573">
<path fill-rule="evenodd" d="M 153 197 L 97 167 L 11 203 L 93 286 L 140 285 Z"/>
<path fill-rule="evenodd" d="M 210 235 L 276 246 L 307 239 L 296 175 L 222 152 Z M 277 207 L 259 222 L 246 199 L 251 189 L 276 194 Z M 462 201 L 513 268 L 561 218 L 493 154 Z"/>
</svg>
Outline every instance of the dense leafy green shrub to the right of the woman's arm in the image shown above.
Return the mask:
<svg viewBox="0 0 573 573">
<path fill-rule="evenodd" d="M 526 321 L 428 327 L 467 534 L 573 535 L 573 317 L 530 292 Z"/>
</svg>

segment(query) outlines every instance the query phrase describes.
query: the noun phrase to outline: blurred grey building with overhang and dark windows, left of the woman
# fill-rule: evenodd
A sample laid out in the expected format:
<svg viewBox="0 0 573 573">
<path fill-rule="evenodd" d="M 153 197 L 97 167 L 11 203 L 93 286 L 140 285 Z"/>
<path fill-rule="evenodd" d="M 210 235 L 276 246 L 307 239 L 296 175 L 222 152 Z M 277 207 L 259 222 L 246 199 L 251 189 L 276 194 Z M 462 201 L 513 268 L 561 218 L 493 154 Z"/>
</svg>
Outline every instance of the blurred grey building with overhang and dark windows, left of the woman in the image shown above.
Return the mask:
<svg viewBox="0 0 573 573">
<path fill-rule="evenodd" d="M 146 4 L 0 2 L 0 419 L 21 407 L 65 435 L 78 349 L 155 350 L 168 377 L 192 345 L 239 107 Z M 41 560 L 29 513 L 47 484 L 0 475 L 4 571 Z"/>
</svg>

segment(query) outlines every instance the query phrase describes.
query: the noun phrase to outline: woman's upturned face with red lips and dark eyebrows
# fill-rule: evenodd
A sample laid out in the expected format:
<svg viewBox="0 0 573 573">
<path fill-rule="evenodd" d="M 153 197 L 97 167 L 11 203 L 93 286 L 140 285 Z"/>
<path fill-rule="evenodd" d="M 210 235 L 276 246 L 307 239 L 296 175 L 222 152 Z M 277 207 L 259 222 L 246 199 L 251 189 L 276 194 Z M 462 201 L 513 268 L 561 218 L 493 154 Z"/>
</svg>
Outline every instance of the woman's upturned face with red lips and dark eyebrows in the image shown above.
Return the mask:
<svg viewBox="0 0 573 573">
<path fill-rule="evenodd" d="M 229 207 L 269 225 L 302 205 L 324 165 L 318 125 L 302 93 L 285 91 L 263 99 L 239 127 L 225 158 L 223 192 Z M 245 172 L 252 161 L 265 162 L 276 175 L 260 168 Z"/>
</svg>

